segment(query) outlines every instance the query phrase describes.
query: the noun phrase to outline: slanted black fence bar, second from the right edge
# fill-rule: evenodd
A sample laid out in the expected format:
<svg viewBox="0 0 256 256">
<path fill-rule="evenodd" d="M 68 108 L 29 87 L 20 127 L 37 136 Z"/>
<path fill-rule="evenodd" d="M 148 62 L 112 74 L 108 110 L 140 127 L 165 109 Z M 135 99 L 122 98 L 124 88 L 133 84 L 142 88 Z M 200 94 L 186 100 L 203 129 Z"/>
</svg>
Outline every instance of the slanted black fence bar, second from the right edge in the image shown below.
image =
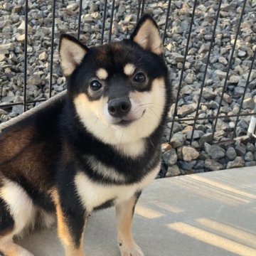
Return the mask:
<svg viewBox="0 0 256 256">
<path fill-rule="evenodd" d="M 220 105 L 218 106 L 218 111 L 217 111 L 217 114 L 216 114 L 217 118 L 215 119 L 215 124 L 214 124 L 214 127 L 213 127 L 212 140 L 214 139 L 214 134 L 215 134 L 215 130 L 216 130 L 216 127 L 217 127 L 217 122 L 218 122 L 218 115 L 220 114 L 221 104 L 223 102 L 224 93 L 225 93 L 225 90 L 226 90 L 226 87 L 227 87 L 227 84 L 228 84 L 228 76 L 229 76 L 229 73 L 230 73 L 231 65 L 233 63 L 233 55 L 235 53 L 235 46 L 236 46 L 236 43 L 238 41 L 238 35 L 239 35 L 239 32 L 240 32 L 240 26 L 241 26 L 241 23 L 242 23 L 242 16 L 245 12 L 245 5 L 246 5 L 246 0 L 244 1 L 243 6 L 242 6 L 241 16 L 240 16 L 240 20 L 239 20 L 239 23 L 238 23 L 238 31 L 235 34 L 234 46 L 233 46 L 232 51 L 231 51 L 230 60 L 229 60 L 229 63 L 228 63 L 228 70 L 227 70 L 227 74 L 225 76 L 225 82 L 224 82 L 224 85 L 223 85 L 223 91 L 222 91 L 221 97 L 220 97 Z"/>
</svg>

